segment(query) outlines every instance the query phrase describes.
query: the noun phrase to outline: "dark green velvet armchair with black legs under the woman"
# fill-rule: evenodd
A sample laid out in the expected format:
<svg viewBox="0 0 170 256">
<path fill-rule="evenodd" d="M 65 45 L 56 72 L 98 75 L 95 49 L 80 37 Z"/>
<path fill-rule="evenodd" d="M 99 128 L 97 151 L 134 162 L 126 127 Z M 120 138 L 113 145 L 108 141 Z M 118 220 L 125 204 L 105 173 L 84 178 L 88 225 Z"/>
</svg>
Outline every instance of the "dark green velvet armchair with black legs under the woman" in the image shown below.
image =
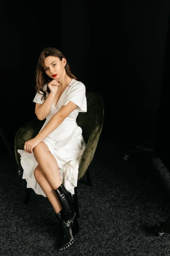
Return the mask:
<svg viewBox="0 0 170 256">
<path fill-rule="evenodd" d="M 88 185 L 92 186 L 89 165 L 94 158 L 96 147 L 99 141 L 100 134 L 103 127 L 104 119 L 104 102 L 102 95 L 99 93 L 86 92 L 87 98 L 87 112 L 79 112 L 77 116 L 77 124 L 82 128 L 82 135 L 86 142 L 85 150 L 82 154 L 81 161 L 79 163 L 79 174 L 78 180 L 86 174 Z M 17 152 L 18 149 L 24 149 L 24 144 L 27 140 L 34 138 L 40 131 L 44 120 L 34 119 L 23 125 L 18 129 L 15 140 L 14 140 L 14 151 L 18 168 L 18 174 L 23 174 L 23 168 L 20 164 L 20 154 Z M 26 188 L 26 195 L 24 203 L 28 204 L 30 198 L 30 188 Z M 77 198 L 77 187 L 74 188 L 74 204 L 77 216 L 79 217 L 79 207 Z"/>
</svg>

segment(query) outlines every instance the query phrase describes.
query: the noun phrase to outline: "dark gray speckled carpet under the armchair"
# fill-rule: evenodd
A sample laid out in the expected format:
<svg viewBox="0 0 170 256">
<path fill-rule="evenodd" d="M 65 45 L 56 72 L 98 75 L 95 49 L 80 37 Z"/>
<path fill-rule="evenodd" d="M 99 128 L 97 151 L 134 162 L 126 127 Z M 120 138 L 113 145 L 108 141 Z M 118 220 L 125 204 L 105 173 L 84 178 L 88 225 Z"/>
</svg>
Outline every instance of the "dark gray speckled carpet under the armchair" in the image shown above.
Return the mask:
<svg viewBox="0 0 170 256">
<path fill-rule="evenodd" d="M 75 244 L 57 250 L 58 222 L 47 198 L 31 191 L 9 154 L 0 157 L 0 256 L 169 256 L 170 234 L 157 220 L 170 216 L 170 173 L 155 157 L 123 160 L 121 143 L 101 138 L 91 162 L 92 186 L 78 181 L 79 225 Z M 138 148 L 145 151 L 146 148 Z"/>
</svg>

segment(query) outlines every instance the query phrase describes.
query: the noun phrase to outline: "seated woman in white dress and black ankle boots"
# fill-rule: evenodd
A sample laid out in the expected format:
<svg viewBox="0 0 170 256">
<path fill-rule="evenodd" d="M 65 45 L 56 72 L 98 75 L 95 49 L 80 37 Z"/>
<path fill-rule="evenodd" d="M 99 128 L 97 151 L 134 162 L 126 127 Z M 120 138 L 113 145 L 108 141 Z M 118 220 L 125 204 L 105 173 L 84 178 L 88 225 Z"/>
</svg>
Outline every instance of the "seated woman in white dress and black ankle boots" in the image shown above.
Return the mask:
<svg viewBox="0 0 170 256">
<path fill-rule="evenodd" d="M 59 250 L 68 248 L 79 231 L 74 211 L 74 187 L 85 149 L 79 112 L 87 112 L 85 85 L 71 73 L 58 49 L 40 53 L 36 69 L 37 94 L 33 102 L 37 118 L 46 118 L 40 132 L 18 150 L 27 187 L 47 196 L 62 226 Z"/>
</svg>

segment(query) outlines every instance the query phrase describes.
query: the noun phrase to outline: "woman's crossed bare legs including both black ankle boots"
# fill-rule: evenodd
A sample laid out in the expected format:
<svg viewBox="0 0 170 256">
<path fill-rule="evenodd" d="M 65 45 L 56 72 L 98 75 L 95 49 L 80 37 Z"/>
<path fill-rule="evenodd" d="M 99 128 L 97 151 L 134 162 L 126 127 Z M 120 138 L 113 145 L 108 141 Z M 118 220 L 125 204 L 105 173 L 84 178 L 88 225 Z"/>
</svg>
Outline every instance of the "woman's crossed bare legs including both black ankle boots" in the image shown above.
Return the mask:
<svg viewBox="0 0 170 256">
<path fill-rule="evenodd" d="M 49 152 L 48 146 L 41 142 L 33 149 L 33 152 L 38 162 L 34 170 L 34 176 L 54 207 L 57 218 L 62 224 L 59 250 L 63 250 L 74 242 L 75 236 L 79 231 L 79 225 L 74 213 L 74 204 L 71 202 L 65 187 L 60 186 L 62 180 L 59 175 L 59 166 L 53 154 Z M 58 198 L 62 201 L 62 206 Z M 63 213 L 60 212 L 62 207 Z"/>
</svg>

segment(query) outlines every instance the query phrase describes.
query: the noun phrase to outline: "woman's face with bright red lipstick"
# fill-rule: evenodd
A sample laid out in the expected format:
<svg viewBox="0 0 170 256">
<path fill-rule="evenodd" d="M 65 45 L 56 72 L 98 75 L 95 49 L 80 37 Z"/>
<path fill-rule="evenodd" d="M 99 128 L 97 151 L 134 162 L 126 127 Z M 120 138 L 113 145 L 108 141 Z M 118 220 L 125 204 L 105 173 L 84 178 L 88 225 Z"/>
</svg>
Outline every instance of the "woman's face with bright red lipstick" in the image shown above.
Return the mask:
<svg viewBox="0 0 170 256">
<path fill-rule="evenodd" d="M 65 75 L 65 58 L 62 58 L 62 61 L 58 57 L 48 56 L 44 60 L 45 63 L 45 73 L 52 79 L 59 79 Z"/>
</svg>

